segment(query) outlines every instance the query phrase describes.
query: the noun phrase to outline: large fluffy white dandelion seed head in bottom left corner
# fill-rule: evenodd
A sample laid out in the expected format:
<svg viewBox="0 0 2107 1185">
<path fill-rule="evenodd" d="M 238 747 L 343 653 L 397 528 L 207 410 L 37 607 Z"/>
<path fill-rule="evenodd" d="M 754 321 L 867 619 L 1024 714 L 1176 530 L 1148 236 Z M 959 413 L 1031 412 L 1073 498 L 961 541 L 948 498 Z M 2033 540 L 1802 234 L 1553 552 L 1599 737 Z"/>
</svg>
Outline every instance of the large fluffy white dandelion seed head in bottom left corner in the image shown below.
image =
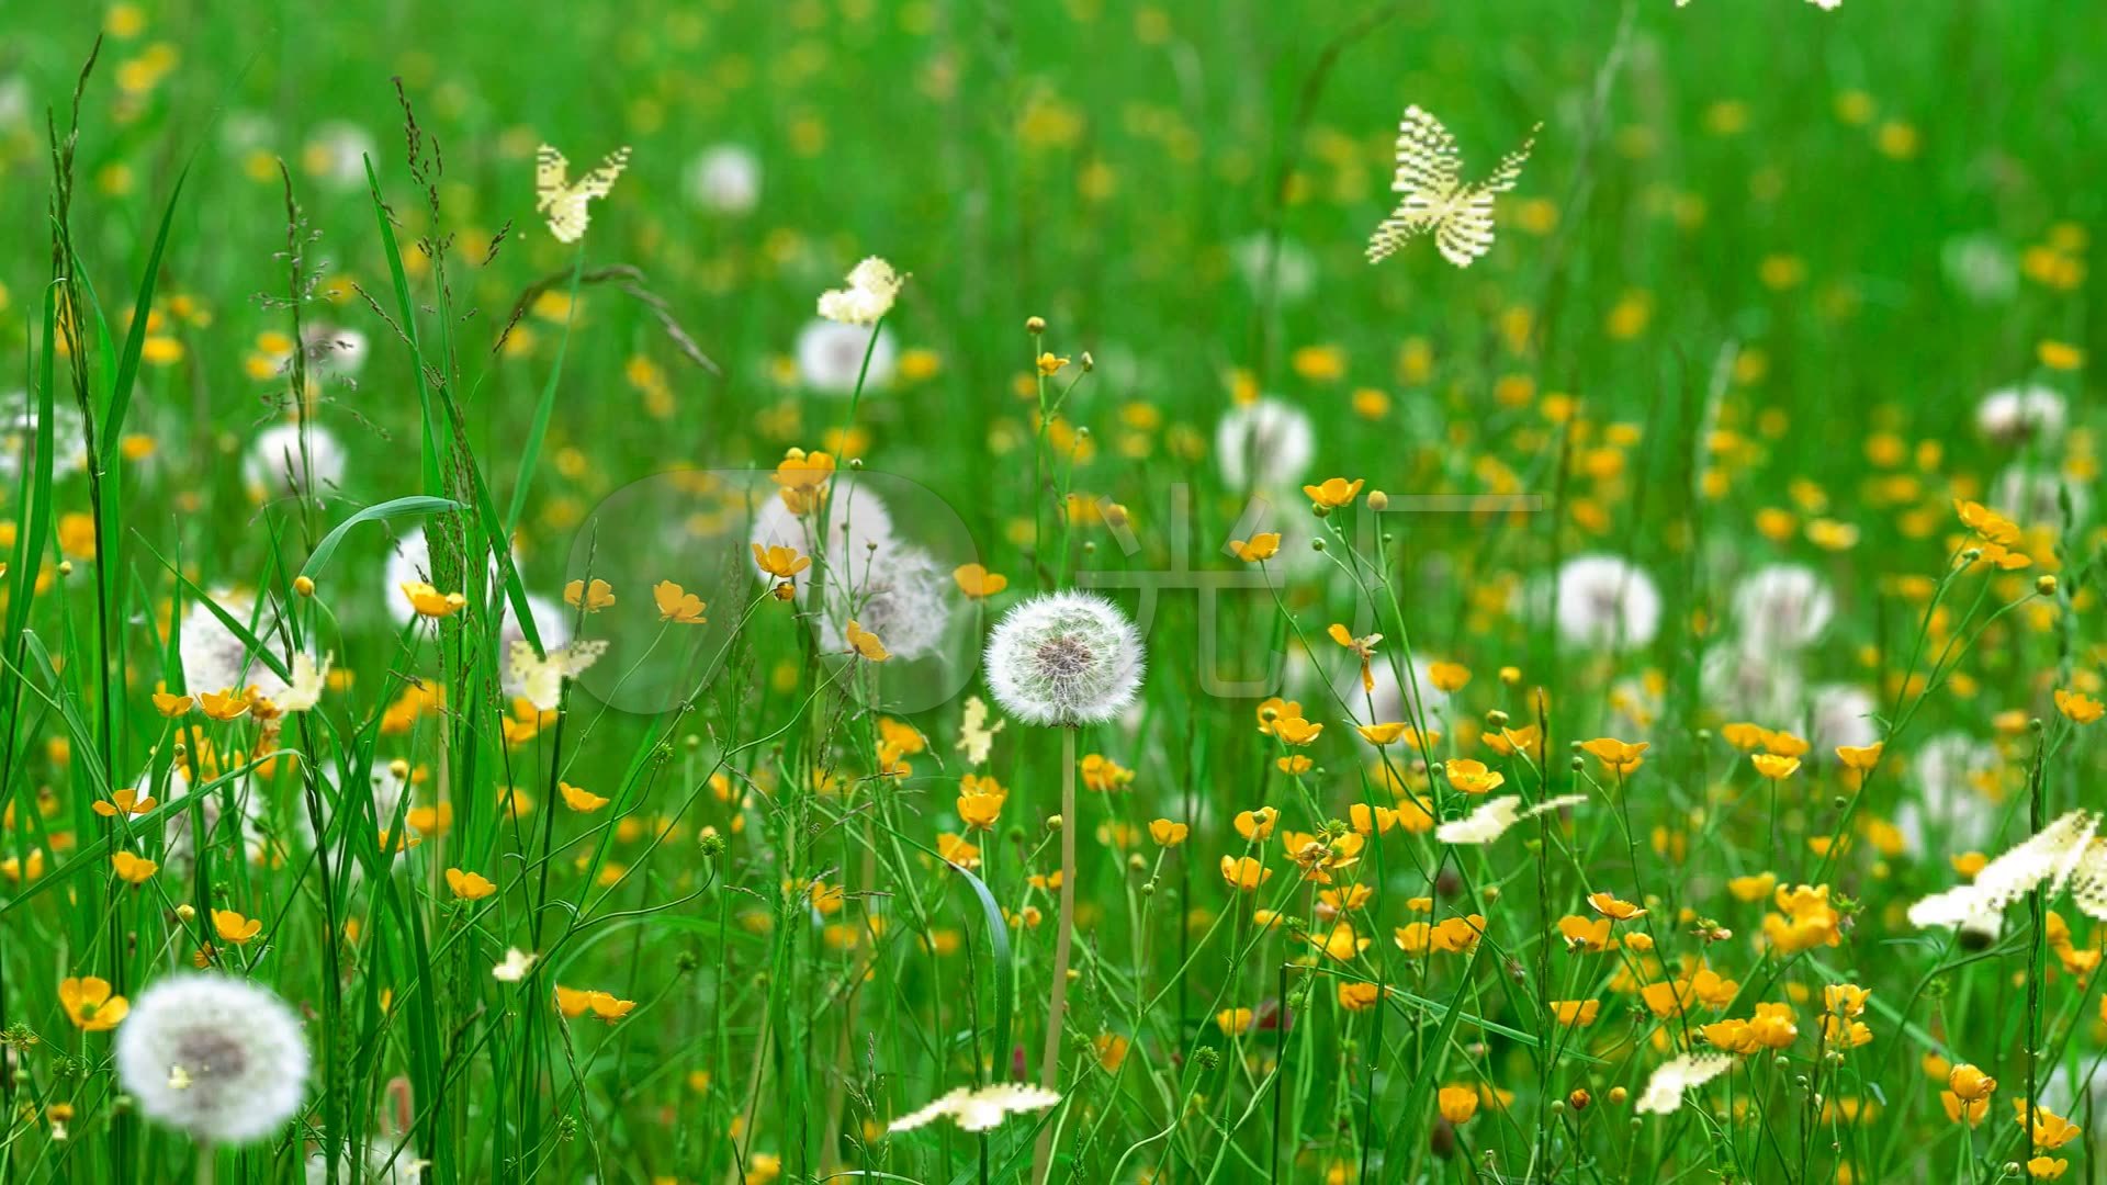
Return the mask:
<svg viewBox="0 0 2107 1185">
<path fill-rule="evenodd" d="M 259 1141 L 299 1111 L 308 1040 L 274 993 L 221 974 L 169 976 L 118 1025 L 118 1080 L 156 1122 L 221 1145 Z"/>
</svg>

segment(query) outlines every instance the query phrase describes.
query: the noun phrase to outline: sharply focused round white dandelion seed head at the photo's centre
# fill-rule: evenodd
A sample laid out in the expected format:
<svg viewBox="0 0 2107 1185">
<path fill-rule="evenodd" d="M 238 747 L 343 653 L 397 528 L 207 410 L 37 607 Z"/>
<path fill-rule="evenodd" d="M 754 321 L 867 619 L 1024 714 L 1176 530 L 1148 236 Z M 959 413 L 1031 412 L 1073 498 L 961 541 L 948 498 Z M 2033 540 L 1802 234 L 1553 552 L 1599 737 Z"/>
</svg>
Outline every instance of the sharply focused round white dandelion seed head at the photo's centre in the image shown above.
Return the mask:
<svg viewBox="0 0 2107 1185">
<path fill-rule="evenodd" d="M 1024 723 L 1102 723 L 1142 685 L 1142 635 L 1104 597 L 1043 592 L 997 622 L 984 664 L 995 702 Z"/>
</svg>

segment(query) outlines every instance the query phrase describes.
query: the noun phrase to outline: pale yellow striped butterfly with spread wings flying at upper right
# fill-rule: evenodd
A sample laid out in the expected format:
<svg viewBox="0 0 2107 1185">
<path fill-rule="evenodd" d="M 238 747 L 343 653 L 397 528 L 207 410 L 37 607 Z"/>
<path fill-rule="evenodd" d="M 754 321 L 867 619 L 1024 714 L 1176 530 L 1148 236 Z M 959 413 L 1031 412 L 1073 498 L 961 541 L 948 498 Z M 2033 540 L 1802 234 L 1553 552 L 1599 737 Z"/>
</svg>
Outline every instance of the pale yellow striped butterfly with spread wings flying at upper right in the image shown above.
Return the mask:
<svg viewBox="0 0 2107 1185">
<path fill-rule="evenodd" d="M 1456 137 L 1418 105 L 1405 108 L 1405 118 L 1397 124 L 1397 179 L 1391 181 L 1391 190 L 1403 196 L 1367 238 L 1367 261 L 1376 264 L 1426 232 L 1433 232 L 1441 257 L 1458 268 L 1469 268 L 1492 251 L 1492 196 L 1513 190 L 1521 179 L 1521 164 L 1536 145 L 1536 129 L 1530 129 L 1521 148 L 1500 158 L 1490 177 L 1464 186 Z"/>
</svg>

